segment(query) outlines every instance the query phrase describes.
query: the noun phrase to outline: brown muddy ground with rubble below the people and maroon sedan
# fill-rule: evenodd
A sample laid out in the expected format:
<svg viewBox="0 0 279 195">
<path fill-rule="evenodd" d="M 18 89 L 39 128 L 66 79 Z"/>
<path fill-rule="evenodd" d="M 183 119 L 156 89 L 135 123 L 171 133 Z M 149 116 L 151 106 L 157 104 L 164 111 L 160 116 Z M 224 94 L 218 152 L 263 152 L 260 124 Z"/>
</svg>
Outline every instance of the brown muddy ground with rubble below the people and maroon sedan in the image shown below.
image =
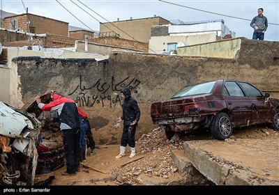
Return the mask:
<svg viewBox="0 0 279 195">
<path fill-rule="evenodd" d="M 54 131 L 52 131 L 53 133 Z M 45 132 L 46 133 L 46 132 Z M 57 141 L 59 141 L 59 134 L 56 132 Z M 81 166 L 81 171 L 76 176 L 61 176 L 65 171 L 66 166 L 51 173 L 36 175 L 36 181 L 45 180 L 50 176 L 54 176 L 50 185 L 185 185 L 181 182 L 181 176 L 177 171 L 176 164 L 171 157 L 171 150 L 183 150 L 183 141 L 193 140 L 213 140 L 210 132 L 191 132 L 183 134 L 177 141 L 169 141 L 165 132 L 160 129 L 150 130 L 149 134 L 143 134 L 140 139 L 136 141 L 136 156 L 130 159 L 130 148 L 126 148 L 126 156 L 120 159 L 115 159 L 119 154 L 119 145 L 103 145 L 96 149 L 96 153 L 90 156 L 90 149 L 87 151 L 86 161 L 83 162 L 86 166 Z M 269 126 L 252 126 L 234 129 L 232 136 L 227 140 L 232 143 L 227 153 L 234 156 L 234 151 L 238 150 L 238 142 L 247 142 L 247 155 L 241 156 L 243 162 L 249 162 L 253 150 L 250 147 L 253 144 L 261 144 L 264 141 L 264 148 L 270 150 L 279 150 L 279 132 L 272 130 Z M 220 146 L 224 141 L 220 141 Z M 212 146 L 209 145 L 210 150 Z M 214 145 L 214 150 L 218 154 L 219 150 L 224 148 Z M 269 153 L 268 150 L 262 153 Z M 276 153 L 275 153 L 276 154 Z M 277 153 L 278 154 L 278 153 Z M 229 155 L 229 154 L 227 154 Z M 279 155 L 271 157 L 272 162 L 276 159 L 279 162 Z M 254 162 L 251 162 L 254 163 Z M 89 167 L 88 167 L 89 166 Z M 274 164 L 264 164 L 264 169 L 278 170 Z M 92 169 L 93 168 L 93 169 Z M 243 169 L 249 169 L 249 166 Z M 259 166 L 261 169 L 261 166 Z M 271 176 L 269 178 L 276 178 L 278 176 Z M 177 182 L 174 182 L 177 181 Z M 189 184 L 188 184 L 189 185 Z M 213 182 L 206 180 L 206 178 L 198 178 L 193 180 L 190 185 L 215 185 Z M 272 185 L 272 181 L 271 181 Z"/>
</svg>

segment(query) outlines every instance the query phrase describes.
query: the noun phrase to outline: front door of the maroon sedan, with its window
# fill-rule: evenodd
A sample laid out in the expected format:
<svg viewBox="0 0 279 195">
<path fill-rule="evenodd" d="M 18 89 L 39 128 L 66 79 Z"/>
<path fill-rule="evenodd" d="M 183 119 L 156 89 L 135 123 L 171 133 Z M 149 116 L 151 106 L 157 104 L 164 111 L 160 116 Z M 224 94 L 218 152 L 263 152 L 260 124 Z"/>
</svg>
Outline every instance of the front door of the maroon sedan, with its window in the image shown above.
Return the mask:
<svg viewBox="0 0 279 195">
<path fill-rule="evenodd" d="M 255 86 L 246 82 L 239 82 L 244 93 L 249 97 L 252 106 L 252 123 L 266 123 L 273 118 L 269 101 L 265 102 L 264 95 Z"/>
</svg>

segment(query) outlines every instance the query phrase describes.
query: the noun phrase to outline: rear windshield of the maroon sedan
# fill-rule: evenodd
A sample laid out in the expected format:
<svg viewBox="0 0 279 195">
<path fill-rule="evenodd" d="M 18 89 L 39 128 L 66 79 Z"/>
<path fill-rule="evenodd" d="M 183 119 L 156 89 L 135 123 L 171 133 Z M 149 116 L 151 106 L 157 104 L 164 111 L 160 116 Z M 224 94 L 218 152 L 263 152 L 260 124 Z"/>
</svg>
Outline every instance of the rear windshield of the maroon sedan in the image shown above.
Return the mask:
<svg viewBox="0 0 279 195">
<path fill-rule="evenodd" d="M 195 84 L 193 86 L 186 86 L 185 88 L 181 89 L 181 91 L 174 94 L 171 99 L 181 98 L 181 97 L 190 96 L 190 95 L 201 95 L 201 94 L 211 93 L 215 84 L 216 84 L 216 81 L 211 81 L 211 82 L 207 82 L 207 83 L 203 83 L 203 84 Z"/>
</svg>

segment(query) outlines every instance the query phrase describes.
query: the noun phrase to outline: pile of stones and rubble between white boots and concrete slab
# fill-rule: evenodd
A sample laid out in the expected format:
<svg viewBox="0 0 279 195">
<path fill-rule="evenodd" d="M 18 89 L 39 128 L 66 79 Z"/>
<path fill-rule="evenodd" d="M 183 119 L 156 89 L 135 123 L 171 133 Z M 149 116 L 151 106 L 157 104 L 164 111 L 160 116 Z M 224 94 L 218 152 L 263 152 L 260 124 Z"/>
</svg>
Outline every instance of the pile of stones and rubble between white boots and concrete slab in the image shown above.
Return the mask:
<svg viewBox="0 0 279 195">
<path fill-rule="evenodd" d="M 133 158 L 134 161 L 132 159 L 133 162 L 112 170 L 111 173 L 117 176 L 117 185 L 142 185 L 143 181 L 138 177 L 142 173 L 149 177 L 169 178 L 177 171 L 171 150 L 182 150 L 183 141 L 169 141 L 165 132 L 157 128 L 143 134 L 136 141 L 136 147 L 138 155 Z"/>
</svg>

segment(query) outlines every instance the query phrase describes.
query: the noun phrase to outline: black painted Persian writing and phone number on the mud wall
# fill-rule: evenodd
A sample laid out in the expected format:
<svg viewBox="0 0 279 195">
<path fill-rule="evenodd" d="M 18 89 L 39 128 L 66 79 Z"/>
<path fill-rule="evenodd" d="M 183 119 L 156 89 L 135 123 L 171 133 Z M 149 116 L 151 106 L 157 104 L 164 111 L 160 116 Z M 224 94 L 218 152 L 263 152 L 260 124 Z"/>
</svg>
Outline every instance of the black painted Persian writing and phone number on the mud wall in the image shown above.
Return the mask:
<svg viewBox="0 0 279 195">
<path fill-rule="evenodd" d="M 121 91 L 122 88 L 126 87 L 129 88 L 131 92 L 134 91 L 134 93 L 137 93 L 135 88 L 137 88 L 139 84 L 139 79 L 131 78 L 130 76 L 116 83 L 114 76 L 112 76 L 112 81 L 110 82 L 98 79 L 96 83 L 85 86 L 82 82 L 82 75 L 80 75 L 80 84 L 77 84 L 75 89 L 68 95 L 79 94 L 75 98 L 79 107 L 93 107 L 95 104 L 102 104 L 102 107 L 105 107 L 107 106 L 105 102 L 109 102 L 110 107 L 115 107 L 118 103 L 121 105 L 119 91 Z M 86 91 L 92 89 L 96 90 L 98 95 L 86 95 Z M 114 94 L 114 96 L 110 94 Z"/>
</svg>

